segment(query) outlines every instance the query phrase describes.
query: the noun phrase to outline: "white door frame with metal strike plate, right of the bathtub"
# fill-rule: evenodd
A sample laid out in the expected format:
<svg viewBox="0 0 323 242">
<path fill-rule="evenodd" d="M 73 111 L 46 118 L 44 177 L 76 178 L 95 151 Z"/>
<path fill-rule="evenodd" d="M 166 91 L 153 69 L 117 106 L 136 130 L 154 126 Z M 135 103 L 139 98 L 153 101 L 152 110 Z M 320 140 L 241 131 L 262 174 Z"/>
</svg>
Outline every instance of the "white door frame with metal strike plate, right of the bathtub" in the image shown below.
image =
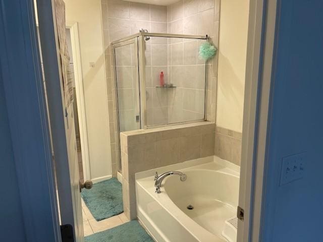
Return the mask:
<svg viewBox="0 0 323 242">
<path fill-rule="evenodd" d="M 265 5 L 266 4 L 266 5 Z M 277 0 L 250 1 L 237 242 L 258 241 Z M 265 17 L 265 18 L 264 18 Z"/>
</svg>

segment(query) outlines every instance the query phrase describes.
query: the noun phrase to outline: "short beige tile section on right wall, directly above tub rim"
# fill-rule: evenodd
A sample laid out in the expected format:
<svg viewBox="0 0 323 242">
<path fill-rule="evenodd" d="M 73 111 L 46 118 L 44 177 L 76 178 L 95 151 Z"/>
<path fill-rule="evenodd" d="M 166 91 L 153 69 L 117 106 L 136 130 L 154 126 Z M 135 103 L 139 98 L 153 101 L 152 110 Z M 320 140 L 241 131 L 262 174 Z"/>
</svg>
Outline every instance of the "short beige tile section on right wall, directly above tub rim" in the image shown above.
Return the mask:
<svg viewBox="0 0 323 242">
<path fill-rule="evenodd" d="M 242 134 L 236 131 L 216 127 L 214 154 L 240 166 Z"/>
</svg>

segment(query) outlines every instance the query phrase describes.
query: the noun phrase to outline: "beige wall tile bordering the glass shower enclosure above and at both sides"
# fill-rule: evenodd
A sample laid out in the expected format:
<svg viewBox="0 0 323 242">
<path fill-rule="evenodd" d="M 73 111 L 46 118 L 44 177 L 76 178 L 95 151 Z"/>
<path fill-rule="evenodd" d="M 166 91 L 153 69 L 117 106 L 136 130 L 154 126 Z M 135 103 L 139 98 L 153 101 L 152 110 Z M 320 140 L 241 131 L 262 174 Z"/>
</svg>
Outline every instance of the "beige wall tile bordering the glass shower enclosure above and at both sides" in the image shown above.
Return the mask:
<svg viewBox="0 0 323 242">
<path fill-rule="evenodd" d="M 138 32 L 140 28 L 146 28 L 149 32 L 175 33 L 176 31 L 179 34 L 204 35 L 208 31 L 210 40 L 218 46 L 220 0 L 185 0 L 168 7 L 120 0 L 101 0 L 101 7 L 112 170 L 113 175 L 116 176 L 119 161 L 119 134 L 111 42 Z M 208 63 L 207 70 L 206 117 L 207 120 L 215 122 L 218 55 Z"/>
</svg>

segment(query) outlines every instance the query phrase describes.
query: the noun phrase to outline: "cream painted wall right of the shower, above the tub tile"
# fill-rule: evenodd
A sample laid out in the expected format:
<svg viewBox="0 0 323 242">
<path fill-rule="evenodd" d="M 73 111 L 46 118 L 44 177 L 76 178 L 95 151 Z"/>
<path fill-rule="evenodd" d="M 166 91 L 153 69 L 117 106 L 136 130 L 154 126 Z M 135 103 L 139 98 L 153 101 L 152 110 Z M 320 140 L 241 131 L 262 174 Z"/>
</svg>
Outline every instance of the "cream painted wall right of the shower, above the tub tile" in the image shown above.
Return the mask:
<svg viewBox="0 0 323 242">
<path fill-rule="evenodd" d="M 242 132 L 249 0 L 221 1 L 217 126 Z"/>
</svg>

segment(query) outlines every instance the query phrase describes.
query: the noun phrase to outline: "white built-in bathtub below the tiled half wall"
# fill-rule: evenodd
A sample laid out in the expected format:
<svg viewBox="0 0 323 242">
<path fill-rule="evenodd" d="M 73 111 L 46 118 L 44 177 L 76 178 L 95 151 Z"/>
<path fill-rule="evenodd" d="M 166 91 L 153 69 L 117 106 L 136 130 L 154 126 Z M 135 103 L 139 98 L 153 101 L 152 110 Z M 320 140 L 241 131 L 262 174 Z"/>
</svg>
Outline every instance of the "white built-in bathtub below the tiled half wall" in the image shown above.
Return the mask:
<svg viewBox="0 0 323 242">
<path fill-rule="evenodd" d="M 170 170 L 185 173 L 186 181 L 168 176 L 155 194 L 154 172 Z M 225 221 L 236 215 L 239 167 L 212 156 L 140 172 L 136 195 L 138 218 L 156 241 L 227 241 L 222 234 Z"/>
</svg>

